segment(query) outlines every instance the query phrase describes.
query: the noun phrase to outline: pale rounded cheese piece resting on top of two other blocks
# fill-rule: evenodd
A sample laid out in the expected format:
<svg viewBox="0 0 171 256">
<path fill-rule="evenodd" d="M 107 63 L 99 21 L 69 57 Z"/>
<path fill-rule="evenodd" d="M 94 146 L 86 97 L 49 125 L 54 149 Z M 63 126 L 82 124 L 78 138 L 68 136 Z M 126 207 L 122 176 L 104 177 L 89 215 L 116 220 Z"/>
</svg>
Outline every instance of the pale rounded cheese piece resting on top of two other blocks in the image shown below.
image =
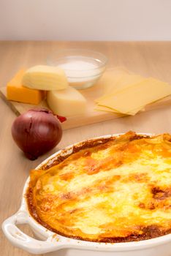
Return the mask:
<svg viewBox="0 0 171 256">
<path fill-rule="evenodd" d="M 65 72 L 61 67 L 34 66 L 23 75 L 23 86 L 38 90 L 63 90 L 68 86 Z"/>
</svg>

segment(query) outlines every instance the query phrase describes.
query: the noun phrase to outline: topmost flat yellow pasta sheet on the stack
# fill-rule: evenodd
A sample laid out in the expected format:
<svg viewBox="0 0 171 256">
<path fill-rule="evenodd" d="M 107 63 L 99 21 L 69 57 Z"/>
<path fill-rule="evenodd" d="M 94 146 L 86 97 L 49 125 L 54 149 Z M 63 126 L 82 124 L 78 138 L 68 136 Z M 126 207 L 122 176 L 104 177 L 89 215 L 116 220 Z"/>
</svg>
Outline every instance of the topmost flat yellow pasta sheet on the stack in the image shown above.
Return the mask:
<svg viewBox="0 0 171 256">
<path fill-rule="evenodd" d="M 123 91 L 102 99 L 100 105 L 114 108 L 121 113 L 129 113 L 170 94 L 170 85 L 154 78 L 147 78 L 134 86 L 129 86 Z"/>
</svg>

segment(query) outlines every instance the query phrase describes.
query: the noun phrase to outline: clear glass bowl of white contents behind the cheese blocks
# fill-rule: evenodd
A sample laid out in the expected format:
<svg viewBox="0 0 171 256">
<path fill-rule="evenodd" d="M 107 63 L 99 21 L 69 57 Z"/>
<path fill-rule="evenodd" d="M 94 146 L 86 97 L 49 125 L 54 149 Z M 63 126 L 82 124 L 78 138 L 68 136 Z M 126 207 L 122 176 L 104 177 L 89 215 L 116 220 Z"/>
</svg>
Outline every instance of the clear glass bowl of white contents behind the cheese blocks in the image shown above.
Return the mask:
<svg viewBox="0 0 171 256">
<path fill-rule="evenodd" d="M 86 89 L 102 76 L 107 57 L 93 50 L 66 49 L 53 52 L 47 64 L 64 69 L 69 86 Z"/>
</svg>

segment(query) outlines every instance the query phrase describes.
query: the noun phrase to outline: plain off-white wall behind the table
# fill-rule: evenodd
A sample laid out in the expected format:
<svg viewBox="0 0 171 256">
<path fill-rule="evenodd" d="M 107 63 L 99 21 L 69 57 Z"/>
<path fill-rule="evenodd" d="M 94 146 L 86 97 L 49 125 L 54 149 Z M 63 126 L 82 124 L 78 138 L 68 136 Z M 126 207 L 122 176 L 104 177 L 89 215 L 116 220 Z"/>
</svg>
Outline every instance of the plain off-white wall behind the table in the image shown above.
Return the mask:
<svg viewBox="0 0 171 256">
<path fill-rule="evenodd" d="M 0 0 L 0 39 L 171 40 L 171 0 Z"/>
</svg>

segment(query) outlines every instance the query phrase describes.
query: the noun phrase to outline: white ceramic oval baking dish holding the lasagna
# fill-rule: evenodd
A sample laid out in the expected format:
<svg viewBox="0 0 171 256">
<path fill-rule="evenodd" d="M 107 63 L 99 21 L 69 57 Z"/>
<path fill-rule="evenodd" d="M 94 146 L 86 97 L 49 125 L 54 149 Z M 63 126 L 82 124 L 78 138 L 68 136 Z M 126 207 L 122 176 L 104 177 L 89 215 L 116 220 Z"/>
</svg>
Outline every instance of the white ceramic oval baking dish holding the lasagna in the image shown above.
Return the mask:
<svg viewBox="0 0 171 256">
<path fill-rule="evenodd" d="M 117 135 L 106 135 L 99 138 L 109 138 Z M 149 135 L 144 134 L 143 135 Z M 96 139 L 96 138 L 94 138 Z M 83 142 L 81 142 L 83 143 Z M 47 162 L 53 160 L 59 155 L 72 152 L 73 146 L 79 146 L 80 143 L 69 146 L 65 150 L 58 151 L 51 157 L 45 159 L 37 169 Z M 21 249 L 31 252 L 32 254 L 47 253 L 47 255 L 58 256 L 170 256 L 171 255 L 171 234 L 160 236 L 158 238 L 148 239 L 145 241 L 133 241 L 126 243 L 96 243 L 91 241 L 80 241 L 72 238 L 59 236 L 56 233 L 47 230 L 31 217 L 26 203 L 26 189 L 29 178 L 23 189 L 23 199 L 18 212 L 12 217 L 6 219 L 2 224 L 2 230 L 8 240 Z M 28 224 L 38 238 L 31 238 L 23 233 L 17 225 Z"/>
</svg>

